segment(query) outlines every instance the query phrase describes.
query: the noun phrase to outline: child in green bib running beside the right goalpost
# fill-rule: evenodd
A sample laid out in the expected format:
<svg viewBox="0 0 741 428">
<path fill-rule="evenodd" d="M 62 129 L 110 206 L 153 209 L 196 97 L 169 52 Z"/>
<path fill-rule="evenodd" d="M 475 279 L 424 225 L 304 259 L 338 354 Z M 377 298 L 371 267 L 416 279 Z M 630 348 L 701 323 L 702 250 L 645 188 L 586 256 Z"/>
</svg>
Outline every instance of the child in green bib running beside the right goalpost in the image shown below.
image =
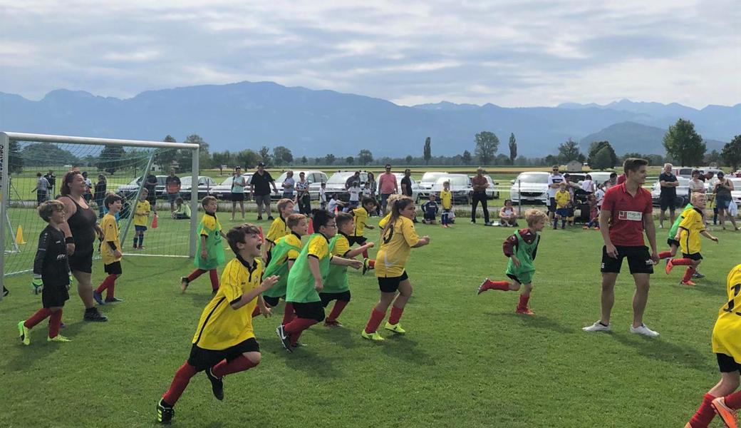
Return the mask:
<svg viewBox="0 0 741 428">
<path fill-rule="evenodd" d="M 198 246 L 196 247 L 196 257 L 193 265 L 196 269 L 190 272 L 187 277 L 180 278 L 180 289 L 185 293 L 185 289 L 190 282 L 208 272 L 211 280 L 211 293 L 216 294 L 219 291 L 219 273 L 218 268 L 225 261 L 224 246 L 222 238 L 226 235 L 222 231 L 222 223 L 216 218 L 216 210 L 219 209 L 219 201 L 213 196 L 207 196 L 201 200 L 201 206 L 205 213 L 198 225 L 199 237 Z"/>
</svg>

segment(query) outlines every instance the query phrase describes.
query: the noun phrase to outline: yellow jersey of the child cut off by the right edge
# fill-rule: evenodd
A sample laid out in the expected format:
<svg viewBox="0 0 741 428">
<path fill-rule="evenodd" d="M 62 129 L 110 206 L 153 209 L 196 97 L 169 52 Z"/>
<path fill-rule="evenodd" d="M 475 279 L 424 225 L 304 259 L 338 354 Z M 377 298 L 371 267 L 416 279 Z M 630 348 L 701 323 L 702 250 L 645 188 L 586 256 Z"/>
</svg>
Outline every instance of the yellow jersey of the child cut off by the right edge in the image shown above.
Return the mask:
<svg viewBox="0 0 741 428">
<path fill-rule="evenodd" d="M 713 328 L 713 352 L 731 356 L 741 364 L 741 265 L 728 273 L 726 280 L 728 303 L 718 309 Z"/>
</svg>

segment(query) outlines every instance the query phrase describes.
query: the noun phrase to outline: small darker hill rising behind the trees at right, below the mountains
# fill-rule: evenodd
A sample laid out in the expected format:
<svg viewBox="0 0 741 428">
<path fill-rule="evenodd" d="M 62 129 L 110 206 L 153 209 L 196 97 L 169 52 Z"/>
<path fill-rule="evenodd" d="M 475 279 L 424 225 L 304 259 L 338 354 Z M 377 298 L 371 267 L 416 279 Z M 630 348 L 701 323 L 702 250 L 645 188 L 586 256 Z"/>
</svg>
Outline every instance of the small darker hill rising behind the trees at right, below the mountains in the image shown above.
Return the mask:
<svg viewBox="0 0 741 428">
<path fill-rule="evenodd" d="M 665 152 L 663 140 L 666 129 L 655 126 L 641 125 L 636 122 L 621 122 L 610 125 L 594 134 L 589 134 L 579 141 L 582 151 L 588 151 L 594 141 L 609 141 L 618 155 L 626 153 L 663 154 Z M 725 142 L 714 139 L 705 139 L 708 151 L 720 151 Z"/>
</svg>

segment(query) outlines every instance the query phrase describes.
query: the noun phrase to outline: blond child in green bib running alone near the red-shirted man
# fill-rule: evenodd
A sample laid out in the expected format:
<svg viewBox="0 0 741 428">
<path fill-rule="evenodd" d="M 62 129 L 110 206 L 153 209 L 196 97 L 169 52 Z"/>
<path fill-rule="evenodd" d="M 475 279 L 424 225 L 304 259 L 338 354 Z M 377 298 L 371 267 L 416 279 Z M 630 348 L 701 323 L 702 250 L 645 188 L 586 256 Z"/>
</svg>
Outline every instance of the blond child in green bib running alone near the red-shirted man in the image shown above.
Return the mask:
<svg viewBox="0 0 741 428">
<path fill-rule="evenodd" d="M 507 264 L 507 276 L 513 280 L 509 281 L 492 281 L 486 278 L 479 286 L 479 293 L 486 290 L 500 290 L 502 292 L 516 292 L 523 287 L 519 294 L 519 303 L 517 304 L 516 313 L 524 315 L 534 315 L 528 307 L 530 293 L 533 291 L 533 276 L 535 275 L 535 260 L 540 242 L 539 231 L 543 230 L 548 216 L 544 212 L 529 209 L 525 211 L 525 221 L 528 222 L 528 228 L 520 229 L 514 232 L 502 244 L 502 250 L 505 256 L 509 257 Z"/>
</svg>

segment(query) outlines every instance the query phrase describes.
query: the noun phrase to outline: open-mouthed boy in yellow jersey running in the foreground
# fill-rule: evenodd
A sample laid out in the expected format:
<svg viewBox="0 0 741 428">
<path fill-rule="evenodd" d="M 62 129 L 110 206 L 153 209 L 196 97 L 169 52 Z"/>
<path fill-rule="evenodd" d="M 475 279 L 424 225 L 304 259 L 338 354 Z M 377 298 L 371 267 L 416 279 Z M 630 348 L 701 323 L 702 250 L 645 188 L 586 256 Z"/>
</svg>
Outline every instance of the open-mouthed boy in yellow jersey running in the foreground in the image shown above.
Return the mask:
<svg viewBox="0 0 741 428">
<path fill-rule="evenodd" d="M 226 240 L 236 258 L 227 263 L 222 286 L 207 304 L 198 322 L 190 357 L 175 373 L 175 378 L 157 403 L 157 421 L 170 424 L 173 406 L 190 378 L 205 370 L 213 395 L 224 399 L 225 375 L 244 372 L 260 363 L 260 346 L 252 328 L 252 314 L 257 297 L 270 289 L 278 277 L 262 277 L 260 231 L 245 223 L 232 228 Z"/>
</svg>

